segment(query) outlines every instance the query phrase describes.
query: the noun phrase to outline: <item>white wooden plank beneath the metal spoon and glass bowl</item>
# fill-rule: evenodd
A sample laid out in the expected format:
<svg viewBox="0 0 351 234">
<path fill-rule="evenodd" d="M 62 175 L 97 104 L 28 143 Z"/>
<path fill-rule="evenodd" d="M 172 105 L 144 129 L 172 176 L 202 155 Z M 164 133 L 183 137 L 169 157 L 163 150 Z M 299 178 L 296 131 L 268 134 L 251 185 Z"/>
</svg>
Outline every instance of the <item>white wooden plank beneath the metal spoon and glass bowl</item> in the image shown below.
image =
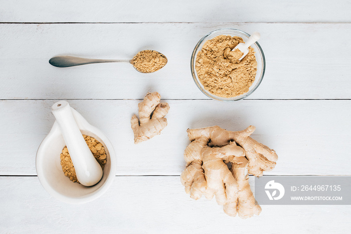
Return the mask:
<svg viewBox="0 0 351 234">
<path fill-rule="evenodd" d="M 351 37 L 349 24 L 0 24 L 0 99 L 136 99 L 152 89 L 167 99 L 206 99 L 190 58 L 204 35 L 223 27 L 261 32 L 266 73 L 249 98 L 351 99 L 351 45 L 325 36 Z M 168 64 L 141 74 L 128 64 L 48 63 L 59 54 L 126 59 L 143 49 L 160 51 Z"/>
</svg>

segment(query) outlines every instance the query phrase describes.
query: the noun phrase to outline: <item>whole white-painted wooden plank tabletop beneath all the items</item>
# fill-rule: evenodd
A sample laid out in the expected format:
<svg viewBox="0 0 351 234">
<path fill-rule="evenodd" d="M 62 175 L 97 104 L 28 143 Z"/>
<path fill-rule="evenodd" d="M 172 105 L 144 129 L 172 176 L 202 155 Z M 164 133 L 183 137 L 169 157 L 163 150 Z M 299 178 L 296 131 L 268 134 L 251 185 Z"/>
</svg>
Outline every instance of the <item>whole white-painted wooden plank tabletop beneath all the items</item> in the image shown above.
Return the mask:
<svg viewBox="0 0 351 234">
<path fill-rule="evenodd" d="M 179 175 L 186 130 L 212 125 L 256 126 L 253 138 L 279 156 L 265 175 L 351 175 L 350 12 L 347 0 L 0 0 L 0 232 L 347 233 L 350 205 L 263 205 L 244 220 L 215 200 L 192 200 Z M 224 27 L 260 32 L 266 56 L 260 87 L 234 103 L 208 99 L 190 73 L 196 43 Z M 127 59 L 143 49 L 168 64 L 141 74 L 128 64 L 48 63 L 59 54 Z M 130 118 L 148 91 L 169 103 L 168 126 L 134 145 Z M 50 106 L 62 99 L 117 153 L 110 189 L 83 205 L 54 199 L 36 174 Z"/>
</svg>

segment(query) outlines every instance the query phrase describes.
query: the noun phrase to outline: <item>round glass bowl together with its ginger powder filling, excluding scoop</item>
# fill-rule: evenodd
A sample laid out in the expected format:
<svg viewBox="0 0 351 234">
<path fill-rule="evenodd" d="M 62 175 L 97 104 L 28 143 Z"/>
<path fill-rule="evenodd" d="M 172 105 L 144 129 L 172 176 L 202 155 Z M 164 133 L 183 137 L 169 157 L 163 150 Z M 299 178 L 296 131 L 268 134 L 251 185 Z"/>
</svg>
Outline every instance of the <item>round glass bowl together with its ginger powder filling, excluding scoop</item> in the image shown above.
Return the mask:
<svg viewBox="0 0 351 234">
<path fill-rule="evenodd" d="M 236 29 L 217 29 L 203 37 L 191 58 L 193 79 L 208 97 L 219 101 L 235 101 L 250 95 L 261 83 L 265 58 L 256 42 L 249 53 L 238 60 L 237 44 L 249 34 Z M 240 57 L 240 56 L 239 56 Z"/>
</svg>

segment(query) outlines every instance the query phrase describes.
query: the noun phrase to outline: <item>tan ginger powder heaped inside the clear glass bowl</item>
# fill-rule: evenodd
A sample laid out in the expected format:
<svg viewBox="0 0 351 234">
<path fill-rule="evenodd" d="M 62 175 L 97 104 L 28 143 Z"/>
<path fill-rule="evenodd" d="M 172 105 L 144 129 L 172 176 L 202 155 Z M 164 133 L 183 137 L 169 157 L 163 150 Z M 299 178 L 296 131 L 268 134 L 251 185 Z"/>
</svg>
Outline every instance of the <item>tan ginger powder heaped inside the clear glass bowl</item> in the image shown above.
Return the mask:
<svg viewBox="0 0 351 234">
<path fill-rule="evenodd" d="M 241 37 L 220 35 L 206 41 L 198 52 L 195 69 L 210 93 L 230 98 L 249 91 L 257 72 L 254 49 L 249 47 L 249 53 L 241 61 L 238 58 L 243 54 L 231 51 L 243 42 Z"/>
</svg>

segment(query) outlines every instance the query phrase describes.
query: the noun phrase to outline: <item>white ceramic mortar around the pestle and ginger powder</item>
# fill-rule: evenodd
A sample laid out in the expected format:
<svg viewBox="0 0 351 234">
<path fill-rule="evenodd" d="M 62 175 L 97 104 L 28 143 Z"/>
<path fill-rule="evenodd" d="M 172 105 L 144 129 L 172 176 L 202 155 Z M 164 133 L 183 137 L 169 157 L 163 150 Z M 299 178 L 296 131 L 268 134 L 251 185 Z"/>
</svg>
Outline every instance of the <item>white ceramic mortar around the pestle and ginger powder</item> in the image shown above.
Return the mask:
<svg viewBox="0 0 351 234">
<path fill-rule="evenodd" d="M 60 154 L 66 144 L 56 121 L 39 146 L 36 168 L 41 184 L 53 197 L 67 203 L 80 204 L 92 201 L 106 192 L 116 174 L 116 156 L 112 144 L 99 129 L 91 126 L 73 108 L 72 113 L 81 133 L 95 138 L 105 148 L 107 162 L 101 180 L 94 186 L 86 187 L 72 182 L 65 176 L 61 167 Z"/>
</svg>

